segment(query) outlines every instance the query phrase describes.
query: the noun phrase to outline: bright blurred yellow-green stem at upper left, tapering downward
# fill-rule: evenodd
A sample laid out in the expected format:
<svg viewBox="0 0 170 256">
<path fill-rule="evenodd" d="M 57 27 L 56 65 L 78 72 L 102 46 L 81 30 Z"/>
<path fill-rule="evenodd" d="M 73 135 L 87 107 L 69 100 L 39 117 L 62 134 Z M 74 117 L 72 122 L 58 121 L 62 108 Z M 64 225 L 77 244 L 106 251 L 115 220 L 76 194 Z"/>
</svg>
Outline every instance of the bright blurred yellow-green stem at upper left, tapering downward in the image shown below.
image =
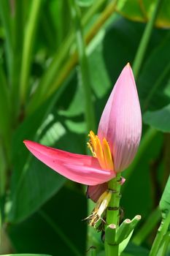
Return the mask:
<svg viewBox="0 0 170 256">
<path fill-rule="evenodd" d="M 28 92 L 28 75 L 31 67 L 31 54 L 34 45 L 34 38 L 36 35 L 36 27 L 41 4 L 42 0 L 33 0 L 31 3 L 30 16 L 23 42 L 23 58 L 20 71 L 20 97 L 22 102 L 26 101 L 26 94 Z"/>
</svg>

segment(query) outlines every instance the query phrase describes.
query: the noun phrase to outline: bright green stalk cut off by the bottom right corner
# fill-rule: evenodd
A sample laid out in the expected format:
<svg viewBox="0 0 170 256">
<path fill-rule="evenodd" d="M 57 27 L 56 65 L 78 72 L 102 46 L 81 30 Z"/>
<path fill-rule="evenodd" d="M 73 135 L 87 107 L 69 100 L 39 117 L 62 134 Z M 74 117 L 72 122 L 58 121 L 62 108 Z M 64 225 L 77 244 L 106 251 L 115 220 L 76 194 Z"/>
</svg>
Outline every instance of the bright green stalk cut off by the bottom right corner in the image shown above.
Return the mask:
<svg viewBox="0 0 170 256">
<path fill-rule="evenodd" d="M 163 236 L 166 235 L 166 232 L 169 228 L 169 224 L 170 224 L 170 211 L 169 211 L 169 214 L 167 215 L 166 219 L 164 219 L 163 224 L 158 229 L 158 233 L 157 233 L 155 240 L 152 244 L 152 248 L 150 250 L 149 256 L 157 255 L 158 249 L 160 248 L 161 242 L 163 240 Z"/>
</svg>

